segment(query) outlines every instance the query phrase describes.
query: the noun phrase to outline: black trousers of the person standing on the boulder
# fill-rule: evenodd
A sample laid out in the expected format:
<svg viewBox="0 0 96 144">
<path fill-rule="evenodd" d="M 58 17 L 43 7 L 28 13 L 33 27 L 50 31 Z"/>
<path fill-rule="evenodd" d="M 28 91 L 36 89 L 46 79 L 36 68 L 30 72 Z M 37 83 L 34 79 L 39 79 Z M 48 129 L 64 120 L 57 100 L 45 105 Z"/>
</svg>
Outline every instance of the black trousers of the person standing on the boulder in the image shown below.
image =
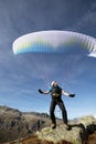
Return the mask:
<svg viewBox="0 0 96 144">
<path fill-rule="evenodd" d="M 54 110 L 55 110 L 55 106 L 58 105 L 61 111 L 62 111 L 62 117 L 63 117 L 63 122 L 65 124 L 67 124 L 67 112 L 66 112 L 66 109 L 64 106 L 64 103 L 62 100 L 52 100 L 51 102 L 51 106 L 50 106 L 50 115 L 51 115 L 51 120 L 52 120 L 52 123 L 56 123 L 55 121 L 55 114 L 54 114 Z"/>
</svg>

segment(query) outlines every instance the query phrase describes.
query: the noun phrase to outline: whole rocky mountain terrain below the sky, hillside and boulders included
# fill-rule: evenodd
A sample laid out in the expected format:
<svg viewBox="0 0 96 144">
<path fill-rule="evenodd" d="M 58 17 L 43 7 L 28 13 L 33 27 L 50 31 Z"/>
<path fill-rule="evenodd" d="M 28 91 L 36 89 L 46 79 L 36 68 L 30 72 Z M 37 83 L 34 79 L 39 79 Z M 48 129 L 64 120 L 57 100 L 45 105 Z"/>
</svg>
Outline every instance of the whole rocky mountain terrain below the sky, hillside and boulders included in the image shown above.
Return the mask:
<svg viewBox="0 0 96 144">
<path fill-rule="evenodd" d="M 20 112 L 0 106 L 0 144 L 95 144 L 96 119 L 83 116 L 68 122 L 70 131 L 57 120 L 51 128 L 46 113 Z M 95 141 L 95 143 L 92 143 Z"/>
</svg>

